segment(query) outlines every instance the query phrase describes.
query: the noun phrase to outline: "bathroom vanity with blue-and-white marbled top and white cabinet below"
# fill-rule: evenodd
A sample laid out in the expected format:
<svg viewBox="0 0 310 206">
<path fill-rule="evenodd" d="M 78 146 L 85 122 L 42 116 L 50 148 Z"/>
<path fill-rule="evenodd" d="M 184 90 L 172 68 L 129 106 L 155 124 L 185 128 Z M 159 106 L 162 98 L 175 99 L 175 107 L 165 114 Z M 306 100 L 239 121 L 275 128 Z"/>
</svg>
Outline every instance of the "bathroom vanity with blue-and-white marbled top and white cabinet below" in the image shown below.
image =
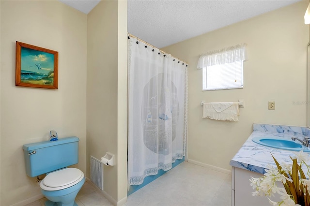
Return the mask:
<svg viewBox="0 0 310 206">
<path fill-rule="evenodd" d="M 230 161 L 232 166 L 232 206 L 269 206 L 269 200 L 265 196 L 252 195 L 255 190 L 250 186 L 249 179 L 263 176 L 268 164 L 276 167 L 271 154 L 280 164 L 281 162 L 291 163 L 290 156 L 295 156 L 294 151 L 254 143 L 253 138 L 271 137 L 291 140 L 292 137 L 299 137 L 300 139 L 309 137 L 309 134 L 310 129 L 308 127 L 253 124 L 252 134 Z M 310 156 L 310 152 L 308 154 Z M 275 196 L 271 200 L 278 202 L 279 199 L 277 198 L 279 197 Z"/>
</svg>

